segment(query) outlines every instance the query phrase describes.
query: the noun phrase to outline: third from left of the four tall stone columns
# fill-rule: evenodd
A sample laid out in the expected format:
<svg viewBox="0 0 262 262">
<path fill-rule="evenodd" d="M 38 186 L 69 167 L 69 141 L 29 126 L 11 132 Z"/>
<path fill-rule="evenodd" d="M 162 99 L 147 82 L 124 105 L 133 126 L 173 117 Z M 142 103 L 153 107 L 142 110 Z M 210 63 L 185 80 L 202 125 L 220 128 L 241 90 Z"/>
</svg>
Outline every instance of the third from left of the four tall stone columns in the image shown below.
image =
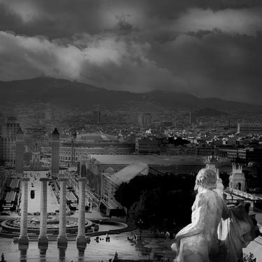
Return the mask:
<svg viewBox="0 0 262 262">
<path fill-rule="evenodd" d="M 60 182 L 60 201 L 59 201 L 59 235 L 57 238 L 58 246 L 67 246 L 66 238 L 66 182 L 67 177 L 59 178 Z"/>
</svg>

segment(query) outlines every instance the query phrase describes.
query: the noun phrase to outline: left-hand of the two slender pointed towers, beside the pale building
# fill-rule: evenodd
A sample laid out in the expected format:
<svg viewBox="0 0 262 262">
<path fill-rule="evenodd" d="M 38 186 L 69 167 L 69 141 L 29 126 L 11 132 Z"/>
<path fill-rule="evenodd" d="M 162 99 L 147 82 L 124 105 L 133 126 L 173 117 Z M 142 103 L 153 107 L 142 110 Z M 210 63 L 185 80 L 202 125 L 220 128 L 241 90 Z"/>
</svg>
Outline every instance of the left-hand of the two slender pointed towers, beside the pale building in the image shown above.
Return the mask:
<svg viewBox="0 0 262 262">
<path fill-rule="evenodd" d="M 24 132 L 21 128 L 17 131 L 15 144 L 15 172 L 21 177 L 24 166 Z"/>
</svg>

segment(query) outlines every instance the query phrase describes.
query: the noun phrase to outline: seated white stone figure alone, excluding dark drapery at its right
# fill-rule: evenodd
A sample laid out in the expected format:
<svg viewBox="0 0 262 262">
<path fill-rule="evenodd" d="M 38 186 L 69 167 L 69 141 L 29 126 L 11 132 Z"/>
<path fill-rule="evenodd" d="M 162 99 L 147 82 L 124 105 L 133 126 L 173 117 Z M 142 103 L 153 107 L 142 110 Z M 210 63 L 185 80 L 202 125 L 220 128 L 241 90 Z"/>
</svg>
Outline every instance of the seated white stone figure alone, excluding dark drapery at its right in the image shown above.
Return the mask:
<svg viewBox="0 0 262 262">
<path fill-rule="evenodd" d="M 177 233 L 175 262 L 210 262 L 210 257 L 219 254 L 219 226 L 225 205 L 213 189 L 217 188 L 217 175 L 210 168 L 203 168 L 196 176 L 198 191 L 192 206 L 191 224 Z"/>
</svg>

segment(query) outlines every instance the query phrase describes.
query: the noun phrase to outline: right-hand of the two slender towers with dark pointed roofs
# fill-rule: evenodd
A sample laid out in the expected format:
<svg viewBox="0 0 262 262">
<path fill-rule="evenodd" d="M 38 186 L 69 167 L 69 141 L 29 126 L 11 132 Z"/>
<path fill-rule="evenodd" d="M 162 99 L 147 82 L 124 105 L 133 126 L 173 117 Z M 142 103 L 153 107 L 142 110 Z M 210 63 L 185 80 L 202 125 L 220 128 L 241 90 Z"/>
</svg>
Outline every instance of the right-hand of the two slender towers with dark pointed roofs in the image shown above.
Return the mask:
<svg viewBox="0 0 262 262">
<path fill-rule="evenodd" d="M 57 177 L 59 174 L 59 143 L 60 134 L 55 128 L 52 132 L 52 156 L 51 156 L 51 175 L 52 177 Z"/>
</svg>

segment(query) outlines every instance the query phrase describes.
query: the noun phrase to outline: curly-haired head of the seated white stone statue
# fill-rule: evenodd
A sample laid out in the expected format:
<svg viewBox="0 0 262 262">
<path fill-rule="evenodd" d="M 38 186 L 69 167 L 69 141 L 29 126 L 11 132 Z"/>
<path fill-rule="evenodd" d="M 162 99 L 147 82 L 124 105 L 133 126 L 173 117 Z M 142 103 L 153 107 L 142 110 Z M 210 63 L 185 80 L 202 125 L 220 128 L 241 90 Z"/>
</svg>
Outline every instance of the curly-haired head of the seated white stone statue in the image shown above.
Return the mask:
<svg viewBox="0 0 262 262">
<path fill-rule="evenodd" d="M 194 189 L 198 190 L 198 187 L 210 190 L 217 188 L 217 174 L 214 170 L 210 168 L 202 168 L 199 170 L 198 175 L 196 176 L 196 184 Z"/>
</svg>

